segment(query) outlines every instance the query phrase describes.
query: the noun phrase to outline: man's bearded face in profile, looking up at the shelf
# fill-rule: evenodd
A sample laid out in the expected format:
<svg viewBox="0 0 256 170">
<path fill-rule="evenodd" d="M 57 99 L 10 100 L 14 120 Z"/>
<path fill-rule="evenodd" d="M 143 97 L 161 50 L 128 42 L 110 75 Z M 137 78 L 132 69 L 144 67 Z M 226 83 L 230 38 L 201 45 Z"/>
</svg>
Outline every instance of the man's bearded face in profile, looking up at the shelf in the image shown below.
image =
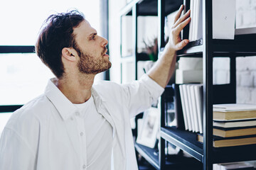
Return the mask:
<svg viewBox="0 0 256 170">
<path fill-rule="evenodd" d="M 107 40 L 97 35 L 97 31 L 87 21 L 82 21 L 74 29 L 76 47 L 80 60 L 78 69 L 81 73 L 97 74 L 110 69 L 111 62 L 107 52 Z M 80 53 L 80 54 L 79 54 Z"/>
</svg>

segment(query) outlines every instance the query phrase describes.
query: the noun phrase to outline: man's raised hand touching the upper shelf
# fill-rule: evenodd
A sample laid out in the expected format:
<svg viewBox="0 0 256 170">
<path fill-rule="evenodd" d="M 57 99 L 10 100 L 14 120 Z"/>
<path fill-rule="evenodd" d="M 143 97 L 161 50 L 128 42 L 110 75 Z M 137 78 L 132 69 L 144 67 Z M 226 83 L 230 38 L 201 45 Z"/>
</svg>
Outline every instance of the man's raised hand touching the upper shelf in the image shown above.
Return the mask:
<svg viewBox="0 0 256 170">
<path fill-rule="evenodd" d="M 181 17 L 181 12 L 183 11 L 183 5 L 178 9 L 178 13 L 176 14 L 174 18 L 174 26 L 171 28 L 171 33 L 169 37 L 169 42 L 167 43 L 166 47 L 169 50 L 181 50 L 183 47 L 185 47 L 188 44 L 188 40 L 182 40 L 181 41 L 181 30 L 191 21 L 191 18 L 188 17 L 190 15 L 190 11 L 188 10 L 185 15 Z"/>
</svg>

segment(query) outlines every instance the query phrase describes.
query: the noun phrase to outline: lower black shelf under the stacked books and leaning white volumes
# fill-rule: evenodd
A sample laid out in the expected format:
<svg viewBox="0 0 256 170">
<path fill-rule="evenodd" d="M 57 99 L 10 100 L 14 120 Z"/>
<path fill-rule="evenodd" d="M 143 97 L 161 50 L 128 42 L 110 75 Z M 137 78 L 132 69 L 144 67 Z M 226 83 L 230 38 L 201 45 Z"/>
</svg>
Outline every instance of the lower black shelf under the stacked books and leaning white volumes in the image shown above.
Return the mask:
<svg viewBox="0 0 256 170">
<path fill-rule="evenodd" d="M 196 140 L 196 133 L 176 128 L 161 128 L 161 137 L 180 147 L 188 154 L 203 162 L 203 144 Z M 213 163 L 242 162 L 256 160 L 256 145 L 238 147 L 213 147 Z"/>
</svg>

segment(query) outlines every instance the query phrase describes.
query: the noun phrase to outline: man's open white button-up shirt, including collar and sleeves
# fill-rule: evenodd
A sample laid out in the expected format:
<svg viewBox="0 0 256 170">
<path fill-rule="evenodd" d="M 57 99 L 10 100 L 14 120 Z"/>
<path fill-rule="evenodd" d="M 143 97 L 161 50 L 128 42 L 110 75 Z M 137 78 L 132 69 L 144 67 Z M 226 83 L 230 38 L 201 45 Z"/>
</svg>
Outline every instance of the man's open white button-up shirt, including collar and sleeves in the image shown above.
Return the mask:
<svg viewBox="0 0 256 170">
<path fill-rule="evenodd" d="M 92 87 L 97 112 L 113 128 L 115 170 L 138 169 L 130 118 L 149 108 L 163 91 L 146 75 L 132 84 L 100 81 Z M 80 131 L 72 120 L 76 112 L 73 103 L 49 81 L 45 94 L 11 115 L 0 139 L 0 169 L 86 169 Z"/>
</svg>

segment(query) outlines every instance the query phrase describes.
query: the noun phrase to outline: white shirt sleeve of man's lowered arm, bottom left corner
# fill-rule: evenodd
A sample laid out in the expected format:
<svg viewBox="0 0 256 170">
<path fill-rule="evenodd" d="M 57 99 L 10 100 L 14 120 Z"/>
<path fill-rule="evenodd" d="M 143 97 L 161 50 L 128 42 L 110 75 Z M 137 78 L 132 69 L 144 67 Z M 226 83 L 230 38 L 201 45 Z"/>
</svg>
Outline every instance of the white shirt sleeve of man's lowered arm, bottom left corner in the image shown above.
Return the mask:
<svg viewBox="0 0 256 170">
<path fill-rule="evenodd" d="M 36 154 L 14 130 L 5 128 L 0 138 L 0 169 L 36 169 Z"/>
</svg>

